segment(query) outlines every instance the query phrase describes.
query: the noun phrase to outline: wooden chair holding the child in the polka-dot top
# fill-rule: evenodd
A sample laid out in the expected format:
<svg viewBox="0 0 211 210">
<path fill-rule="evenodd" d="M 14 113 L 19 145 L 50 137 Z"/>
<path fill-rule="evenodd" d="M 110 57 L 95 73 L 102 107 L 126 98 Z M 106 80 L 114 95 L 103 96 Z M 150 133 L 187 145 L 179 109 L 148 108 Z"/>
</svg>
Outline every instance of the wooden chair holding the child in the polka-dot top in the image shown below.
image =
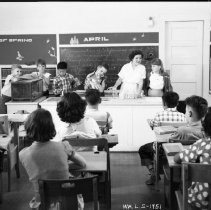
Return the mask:
<svg viewBox="0 0 211 210">
<path fill-rule="evenodd" d="M 182 192 L 175 191 L 179 210 L 188 210 L 188 188 L 192 182 L 209 184 L 208 209 L 211 209 L 211 165 L 182 163 Z"/>
</svg>

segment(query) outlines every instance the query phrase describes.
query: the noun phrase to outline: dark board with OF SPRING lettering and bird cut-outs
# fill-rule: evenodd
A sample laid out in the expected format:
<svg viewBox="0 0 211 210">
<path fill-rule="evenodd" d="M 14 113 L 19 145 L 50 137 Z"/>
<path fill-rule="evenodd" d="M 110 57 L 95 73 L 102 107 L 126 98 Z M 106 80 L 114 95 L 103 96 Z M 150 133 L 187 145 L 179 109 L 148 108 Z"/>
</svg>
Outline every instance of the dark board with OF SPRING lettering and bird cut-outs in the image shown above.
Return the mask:
<svg viewBox="0 0 211 210">
<path fill-rule="evenodd" d="M 56 34 L 0 35 L 0 55 L 0 65 L 56 64 Z"/>
</svg>

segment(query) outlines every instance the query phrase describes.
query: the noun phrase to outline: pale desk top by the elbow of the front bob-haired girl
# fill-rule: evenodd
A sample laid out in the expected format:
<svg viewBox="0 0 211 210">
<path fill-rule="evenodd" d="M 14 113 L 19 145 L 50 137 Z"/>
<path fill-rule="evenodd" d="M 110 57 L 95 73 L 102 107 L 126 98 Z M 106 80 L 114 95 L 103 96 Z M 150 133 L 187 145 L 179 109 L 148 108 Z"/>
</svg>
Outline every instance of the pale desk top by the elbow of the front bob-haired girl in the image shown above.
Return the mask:
<svg viewBox="0 0 211 210">
<path fill-rule="evenodd" d="M 107 153 L 102 151 L 94 153 L 93 151 L 77 152 L 86 160 L 86 168 L 75 169 L 77 171 L 102 172 L 107 171 Z M 73 169 L 74 170 L 74 169 Z"/>
</svg>

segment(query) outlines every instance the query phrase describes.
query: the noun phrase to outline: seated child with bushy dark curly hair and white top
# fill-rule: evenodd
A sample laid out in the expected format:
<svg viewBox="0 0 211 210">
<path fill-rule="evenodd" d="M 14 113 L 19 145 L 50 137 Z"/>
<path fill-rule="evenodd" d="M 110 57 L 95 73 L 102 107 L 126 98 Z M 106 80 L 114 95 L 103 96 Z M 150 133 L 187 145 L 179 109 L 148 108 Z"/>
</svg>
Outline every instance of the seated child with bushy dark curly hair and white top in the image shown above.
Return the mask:
<svg viewBox="0 0 211 210">
<path fill-rule="evenodd" d="M 64 133 L 60 136 L 71 136 L 78 133 L 81 137 L 97 138 L 101 137 L 101 130 L 96 121 L 88 116 L 84 116 L 86 101 L 77 93 L 65 93 L 61 101 L 57 104 L 57 113 L 61 121 L 68 123 Z"/>
</svg>

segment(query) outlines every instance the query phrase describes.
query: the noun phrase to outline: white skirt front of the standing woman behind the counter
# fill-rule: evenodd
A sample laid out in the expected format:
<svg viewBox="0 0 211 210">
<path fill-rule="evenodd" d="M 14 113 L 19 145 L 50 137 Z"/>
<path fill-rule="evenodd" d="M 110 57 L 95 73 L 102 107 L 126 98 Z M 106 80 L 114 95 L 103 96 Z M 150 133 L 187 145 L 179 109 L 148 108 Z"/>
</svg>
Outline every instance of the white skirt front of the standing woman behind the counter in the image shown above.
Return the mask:
<svg viewBox="0 0 211 210">
<path fill-rule="evenodd" d="M 138 84 L 132 82 L 123 82 L 120 89 L 119 98 L 138 98 Z"/>
</svg>

